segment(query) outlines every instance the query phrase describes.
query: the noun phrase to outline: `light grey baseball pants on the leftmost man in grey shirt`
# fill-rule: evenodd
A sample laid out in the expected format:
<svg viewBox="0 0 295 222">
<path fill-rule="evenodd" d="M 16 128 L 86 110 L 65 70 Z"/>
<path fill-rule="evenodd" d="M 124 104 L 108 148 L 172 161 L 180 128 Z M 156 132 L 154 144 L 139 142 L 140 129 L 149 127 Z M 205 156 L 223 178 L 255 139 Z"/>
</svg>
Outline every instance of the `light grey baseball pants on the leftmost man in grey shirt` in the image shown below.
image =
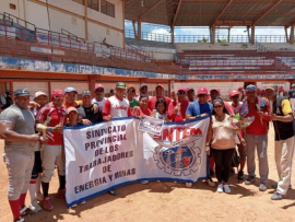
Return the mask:
<svg viewBox="0 0 295 222">
<path fill-rule="evenodd" d="M 17 200 L 21 194 L 27 191 L 34 165 L 34 152 L 4 152 L 3 161 L 9 173 L 8 199 Z"/>
</svg>

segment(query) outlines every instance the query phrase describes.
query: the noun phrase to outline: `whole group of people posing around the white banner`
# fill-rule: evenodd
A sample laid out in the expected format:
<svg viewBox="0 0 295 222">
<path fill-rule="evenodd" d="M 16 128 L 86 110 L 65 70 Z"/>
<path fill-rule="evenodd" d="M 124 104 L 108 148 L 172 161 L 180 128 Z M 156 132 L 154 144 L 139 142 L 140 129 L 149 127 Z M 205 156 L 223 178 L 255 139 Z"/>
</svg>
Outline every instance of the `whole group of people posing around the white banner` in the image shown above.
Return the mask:
<svg viewBox="0 0 295 222">
<path fill-rule="evenodd" d="M 295 98 L 295 84 L 290 97 Z M 54 90 L 51 95 L 36 92 L 34 101 L 26 89 L 14 91 L 14 104 L 0 114 L 0 139 L 4 140 L 4 163 L 9 173 L 8 199 L 14 221 L 24 221 L 23 215 L 44 210 L 51 211 L 49 184 L 57 166 L 59 177 L 58 198 L 66 196 L 64 150 L 62 130 L 64 126 L 92 125 L 110 121 L 114 118 L 152 116 L 167 121 L 185 121 L 199 117 L 210 117 L 206 133 L 206 183 L 217 192 L 231 192 L 228 178 L 233 155 L 238 148 L 240 156 L 238 178 L 244 179 L 247 165 L 248 178 L 245 184 L 256 180 L 255 153 L 259 161 L 259 190 L 268 188 L 268 131 L 270 121 L 275 132 L 275 163 L 279 180 L 272 200 L 285 197 L 291 186 L 291 168 L 294 151 L 293 114 L 288 97 L 276 92 L 275 86 L 264 89 L 266 96 L 258 96 L 258 89 L 248 85 L 229 93 L 231 102 L 221 98 L 219 89 L 208 91 L 199 87 L 197 96 L 192 87 L 179 87 L 170 97 L 164 96 L 164 86 L 157 84 L 155 96 L 150 96 L 148 84 L 137 89 L 123 82 L 116 84 L 115 94 L 105 97 L 105 89 L 96 85 L 94 92 L 84 90 L 82 100 L 75 101 L 74 87 Z M 50 100 L 49 100 L 50 98 Z M 293 107 L 294 108 L 294 107 Z M 255 117 L 246 129 L 232 124 L 236 114 Z M 148 184 L 149 182 L 143 182 Z M 191 187 L 191 183 L 186 183 Z M 40 189 L 42 188 L 42 189 Z M 27 190 L 31 203 L 25 206 Z M 116 195 L 117 190 L 109 190 Z M 39 203 L 38 203 L 38 201 Z M 84 203 L 84 202 L 82 202 Z M 42 208 L 40 208 L 40 206 Z M 74 206 L 75 207 L 75 206 Z"/>
</svg>

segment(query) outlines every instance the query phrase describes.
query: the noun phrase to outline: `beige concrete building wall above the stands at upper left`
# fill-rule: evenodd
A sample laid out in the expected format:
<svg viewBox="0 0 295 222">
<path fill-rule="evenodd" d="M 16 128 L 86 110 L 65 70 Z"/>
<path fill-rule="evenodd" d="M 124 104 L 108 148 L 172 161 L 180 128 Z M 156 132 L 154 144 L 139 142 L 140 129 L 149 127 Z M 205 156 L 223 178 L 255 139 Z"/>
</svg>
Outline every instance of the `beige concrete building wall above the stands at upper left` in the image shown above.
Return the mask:
<svg viewBox="0 0 295 222">
<path fill-rule="evenodd" d="M 115 4 L 115 17 L 87 8 L 88 28 L 86 28 L 83 4 L 72 0 L 48 0 L 50 28 L 55 32 L 61 32 L 63 28 L 81 38 L 88 35 L 90 42 L 103 42 L 106 38 L 108 44 L 123 47 L 123 2 L 121 0 L 108 2 Z M 14 3 L 16 10 L 11 10 L 10 3 Z M 49 30 L 45 0 L 1 0 L 0 13 L 3 12 L 26 20 L 37 27 Z"/>
</svg>

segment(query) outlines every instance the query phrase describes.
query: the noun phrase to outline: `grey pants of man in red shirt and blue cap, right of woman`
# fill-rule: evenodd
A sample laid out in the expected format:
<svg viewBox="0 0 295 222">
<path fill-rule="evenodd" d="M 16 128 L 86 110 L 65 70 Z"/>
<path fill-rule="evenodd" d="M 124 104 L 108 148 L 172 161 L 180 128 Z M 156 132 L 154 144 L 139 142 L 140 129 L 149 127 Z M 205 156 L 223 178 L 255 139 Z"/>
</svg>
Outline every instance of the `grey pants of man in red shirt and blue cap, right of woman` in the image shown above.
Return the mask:
<svg viewBox="0 0 295 222">
<path fill-rule="evenodd" d="M 256 177 L 255 170 L 255 151 L 257 150 L 259 162 L 260 183 L 267 185 L 269 178 L 269 163 L 268 163 L 268 135 L 245 135 L 247 147 L 247 167 L 248 174 Z"/>
</svg>

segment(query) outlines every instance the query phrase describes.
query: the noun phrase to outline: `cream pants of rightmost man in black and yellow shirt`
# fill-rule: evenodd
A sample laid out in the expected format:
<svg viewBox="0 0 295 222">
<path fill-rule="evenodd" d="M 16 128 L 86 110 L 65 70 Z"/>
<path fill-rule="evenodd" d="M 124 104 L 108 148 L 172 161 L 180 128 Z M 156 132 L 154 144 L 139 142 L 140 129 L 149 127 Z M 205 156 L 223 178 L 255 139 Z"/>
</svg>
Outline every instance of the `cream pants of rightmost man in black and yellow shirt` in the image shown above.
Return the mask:
<svg viewBox="0 0 295 222">
<path fill-rule="evenodd" d="M 294 141 L 295 137 L 292 137 L 286 140 L 275 141 L 274 143 L 274 160 L 279 175 L 276 191 L 281 195 L 286 194 L 291 183 Z"/>
</svg>

